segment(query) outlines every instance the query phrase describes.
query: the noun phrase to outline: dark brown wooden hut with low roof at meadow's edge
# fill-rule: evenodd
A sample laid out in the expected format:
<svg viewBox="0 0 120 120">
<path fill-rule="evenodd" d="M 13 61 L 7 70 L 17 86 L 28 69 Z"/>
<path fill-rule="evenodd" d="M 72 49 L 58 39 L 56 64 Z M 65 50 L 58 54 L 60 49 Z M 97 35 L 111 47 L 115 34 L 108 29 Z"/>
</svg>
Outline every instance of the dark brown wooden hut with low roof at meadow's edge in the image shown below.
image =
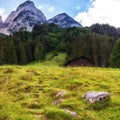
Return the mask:
<svg viewBox="0 0 120 120">
<path fill-rule="evenodd" d="M 79 66 L 94 66 L 94 62 L 84 56 L 78 57 L 75 59 L 72 59 L 68 61 L 65 66 L 70 66 L 70 67 L 79 67 Z"/>
</svg>

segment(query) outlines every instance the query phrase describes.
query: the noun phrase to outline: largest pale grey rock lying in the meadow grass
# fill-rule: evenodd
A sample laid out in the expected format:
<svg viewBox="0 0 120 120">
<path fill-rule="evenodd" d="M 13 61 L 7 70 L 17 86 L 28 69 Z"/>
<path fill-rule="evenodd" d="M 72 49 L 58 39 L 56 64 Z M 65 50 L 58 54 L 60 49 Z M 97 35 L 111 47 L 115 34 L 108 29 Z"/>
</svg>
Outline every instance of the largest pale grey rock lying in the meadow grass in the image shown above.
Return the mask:
<svg viewBox="0 0 120 120">
<path fill-rule="evenodd" d="M 105 99 L 108 99 L 109 97 L 110 94 L 108 92 L 94 92 L 94 91 L 89 91 L 83 96 L 83 98 L 88 100 L 90 103 L 103 101 Z"/>
</svg>

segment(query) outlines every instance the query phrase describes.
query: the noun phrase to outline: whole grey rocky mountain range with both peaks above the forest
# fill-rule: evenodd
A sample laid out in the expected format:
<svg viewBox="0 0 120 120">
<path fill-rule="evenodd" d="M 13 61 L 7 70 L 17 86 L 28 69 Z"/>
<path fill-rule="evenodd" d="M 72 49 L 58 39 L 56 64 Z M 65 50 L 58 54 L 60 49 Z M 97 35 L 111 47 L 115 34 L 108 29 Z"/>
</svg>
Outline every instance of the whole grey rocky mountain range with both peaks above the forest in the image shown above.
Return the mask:
<svg viewBox="0 0 120 120">
<path fill-rule="evenodd" d="M 82 27 L 66 13 L 59 14 L 47 21 L 44 13 L 37 9 L 32 1 L 28 0 L 20 4 L 15 11 L 12 11 L 4 23 L 0 17 L 0 33 L 9 35 L 19 31 L 20 28 L 32 31 L 34 25 L 43 23 L 54 23 L 62 28 Z"/>
</svg>

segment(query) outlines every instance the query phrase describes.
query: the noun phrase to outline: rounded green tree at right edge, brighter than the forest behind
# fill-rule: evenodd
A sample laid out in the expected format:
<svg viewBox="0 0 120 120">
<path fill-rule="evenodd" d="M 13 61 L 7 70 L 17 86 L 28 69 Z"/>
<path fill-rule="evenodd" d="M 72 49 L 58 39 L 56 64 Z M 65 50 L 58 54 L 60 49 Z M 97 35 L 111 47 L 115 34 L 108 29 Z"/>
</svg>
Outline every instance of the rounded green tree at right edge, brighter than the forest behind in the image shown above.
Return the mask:
<svg viewBox="0 0 120 120">
<path fill-rule="evenodd" d="M 120 68 L 120 39 L 116 42 L 110 56 L 110 66 Z"/>
</svg>

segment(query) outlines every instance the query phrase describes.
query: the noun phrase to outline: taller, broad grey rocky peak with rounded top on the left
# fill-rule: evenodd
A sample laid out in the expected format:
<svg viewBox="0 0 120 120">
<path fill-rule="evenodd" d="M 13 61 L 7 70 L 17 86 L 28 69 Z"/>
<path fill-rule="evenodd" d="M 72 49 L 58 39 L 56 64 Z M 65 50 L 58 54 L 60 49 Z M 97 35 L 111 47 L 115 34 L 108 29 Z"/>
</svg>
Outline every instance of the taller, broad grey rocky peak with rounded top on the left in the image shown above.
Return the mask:
<svg viewBox="0 0 120 120">
<path fill-rule="evenodd" d="M 16 11 L 11 12 L 4 23 L 7 32 L 18 31 L 25 27 L 27 31 L 32 31 L 35 24 L 46 21 L 44 14 L 38 10 L 32 1 L 26 1 L 19 5 Z"/>
</svg>

